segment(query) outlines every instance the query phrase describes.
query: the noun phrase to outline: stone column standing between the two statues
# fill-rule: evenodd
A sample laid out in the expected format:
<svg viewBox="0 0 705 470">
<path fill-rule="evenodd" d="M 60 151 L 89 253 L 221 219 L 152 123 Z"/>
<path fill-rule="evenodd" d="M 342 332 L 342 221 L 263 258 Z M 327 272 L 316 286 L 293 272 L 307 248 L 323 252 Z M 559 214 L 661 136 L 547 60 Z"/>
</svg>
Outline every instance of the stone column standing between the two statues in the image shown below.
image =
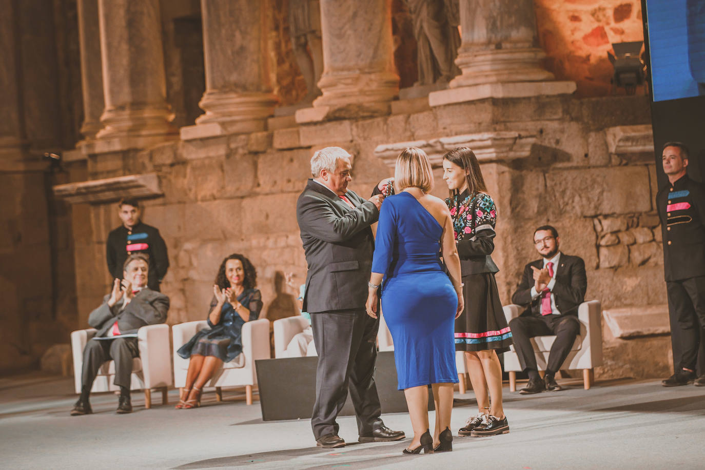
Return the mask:
<svg viewBox="0 0 705 470">
<path fill-rule="evenodd" d="M 301 109 L 296 120 L 384 114 L 399 93 L 394 67 L 391 0 L 321 0 L 324 71 L 323 92 L 314 110 Z"/>
</svg>

